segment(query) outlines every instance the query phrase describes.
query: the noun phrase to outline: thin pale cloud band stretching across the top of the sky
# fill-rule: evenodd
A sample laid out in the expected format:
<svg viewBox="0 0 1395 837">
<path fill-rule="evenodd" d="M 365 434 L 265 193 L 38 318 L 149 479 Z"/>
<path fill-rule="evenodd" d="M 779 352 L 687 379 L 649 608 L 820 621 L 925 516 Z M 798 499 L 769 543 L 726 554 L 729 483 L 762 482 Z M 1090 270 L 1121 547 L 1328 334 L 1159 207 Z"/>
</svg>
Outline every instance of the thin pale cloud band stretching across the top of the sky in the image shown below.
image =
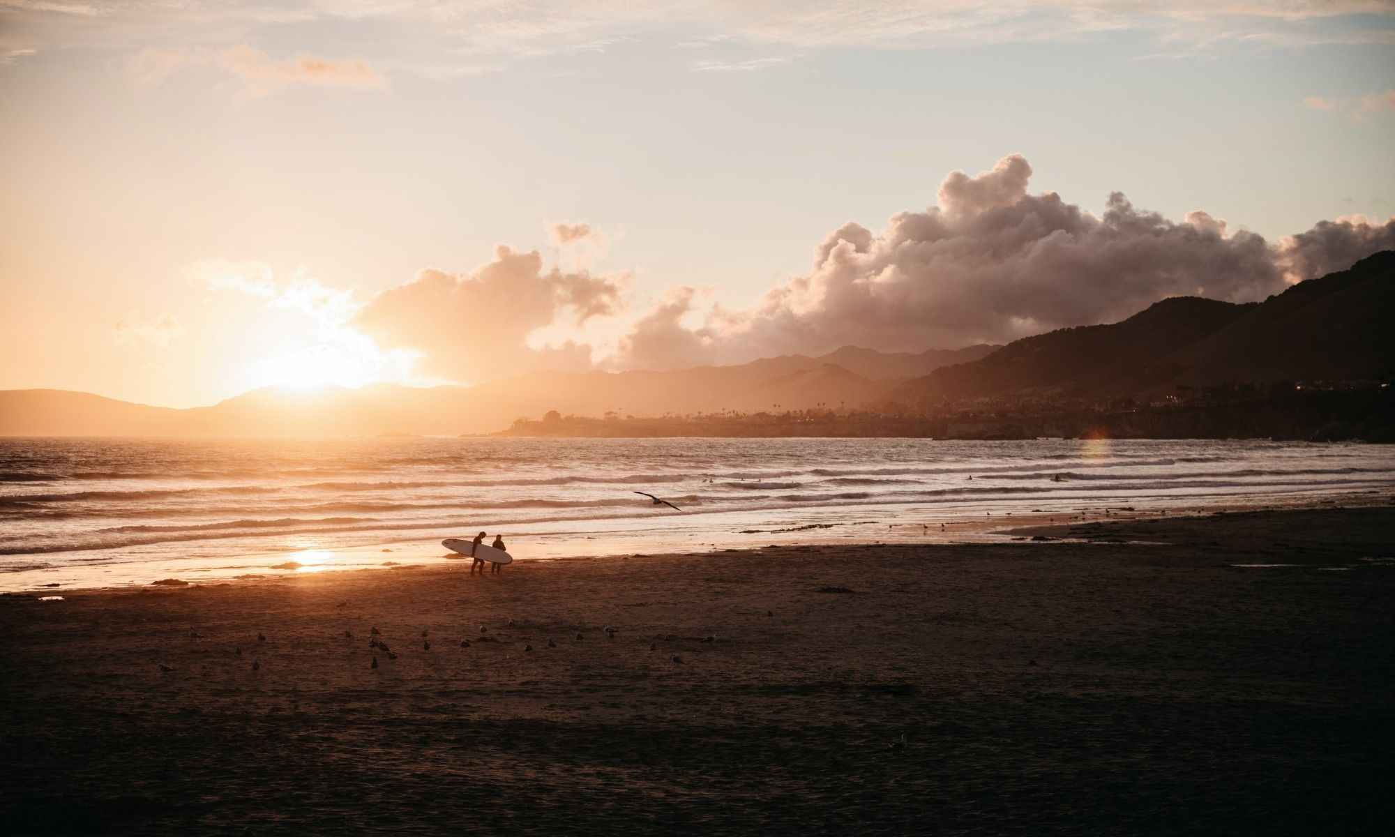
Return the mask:
<svg viewBox="0 0 1395 837">
<path fill-rule="evenodd" d="M 512 59 L 604 52 L 625 42 L 678 38 L 681 47 L 769 50 L 1046 42 L 1109 32 L 1138 32 L 1173 54 L 1198 49 L 1303 47 L 1395 42 L 1389 0 L 290 0 L 230 3 L 181 0 L 0 0 L 39 47 L 180 49 L 244 42 L 259 28 L 296 24 L 317 45 L 353 39 L 372 25 L 392 38 L 374 45 L 375 60 L 437 75 L 452 67 L 495 67 Z M 84 25 L 74 25 L 81 20 Z M 7 21 L 8 22 L 8 21 Z M 4 25 L 0 25 L 3 32 Z M 347 40 L 346 40 L 347 42 Z M 407 45 L 406 47 L 400 45 Z M 718 54 L 704 70 L 755 70 L 784 59 Z M 294 63 L 294 61 L 292 61 Z M 342 68 L 340 68 L 342 70 Z M 276 70 L 280 78 L 287 70 Z M 314 68 L 296 75 L 321 77 Z M 331 73 L 336 75 L 338 70 Z M 356 73 L 349 68 L 347 75 Z M 371 86 L 371 77 L 361 84 Z"/>
</svg>

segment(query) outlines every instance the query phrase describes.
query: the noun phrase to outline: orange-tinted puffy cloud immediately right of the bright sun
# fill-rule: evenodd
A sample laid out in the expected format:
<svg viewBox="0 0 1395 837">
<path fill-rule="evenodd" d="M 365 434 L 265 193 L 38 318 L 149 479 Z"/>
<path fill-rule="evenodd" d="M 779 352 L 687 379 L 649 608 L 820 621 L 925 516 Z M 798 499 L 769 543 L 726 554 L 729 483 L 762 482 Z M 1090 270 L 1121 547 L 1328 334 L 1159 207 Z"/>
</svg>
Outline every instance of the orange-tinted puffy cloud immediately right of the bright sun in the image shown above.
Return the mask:
<svg viewBox="0 0 1395 837">
<path fill-rule="evenodd" d="M 615 279 L 585 271 L 544 272 L 537 251 L 495 251 L 470 275 L 423 271 L 413 282 L 374 297 L 353 325 L 379 346 L 421 353 L 421 371 L 449 381 L 478 381 L 534 370 L 585 370 L 589 345 L 530 347 L 527 338 L 571 310 L 572 321 L 615 314 Z"/>
</svg>

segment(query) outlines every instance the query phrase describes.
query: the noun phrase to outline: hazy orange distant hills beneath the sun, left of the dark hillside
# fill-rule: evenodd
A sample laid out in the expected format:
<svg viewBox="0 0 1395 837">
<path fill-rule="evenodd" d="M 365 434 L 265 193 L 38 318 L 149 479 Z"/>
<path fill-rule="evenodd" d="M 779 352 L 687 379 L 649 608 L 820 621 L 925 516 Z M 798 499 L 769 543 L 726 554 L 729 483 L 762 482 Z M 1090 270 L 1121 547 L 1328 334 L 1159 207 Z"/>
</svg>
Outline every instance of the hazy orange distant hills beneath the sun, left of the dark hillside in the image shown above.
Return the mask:
<svg viewBox="0 0 1395 837">
<path fill-rule="evenodd" d="M 174 410 L 56 389 L 0 392 L 0 435 L 372 437 L 492 432 L 547 410 L 657 416 L 861 406 L 883 398 L 904 370 L 933 368 L 992 346 L 883 354 L 844 347 L 675 371 L 544 372 L 478 386 L 257 389 L 208 407 Z M 830 363 L 843 357 L 866 374 Z M 776 406 L 778 405 L 778 407 Z"/>
</svg>

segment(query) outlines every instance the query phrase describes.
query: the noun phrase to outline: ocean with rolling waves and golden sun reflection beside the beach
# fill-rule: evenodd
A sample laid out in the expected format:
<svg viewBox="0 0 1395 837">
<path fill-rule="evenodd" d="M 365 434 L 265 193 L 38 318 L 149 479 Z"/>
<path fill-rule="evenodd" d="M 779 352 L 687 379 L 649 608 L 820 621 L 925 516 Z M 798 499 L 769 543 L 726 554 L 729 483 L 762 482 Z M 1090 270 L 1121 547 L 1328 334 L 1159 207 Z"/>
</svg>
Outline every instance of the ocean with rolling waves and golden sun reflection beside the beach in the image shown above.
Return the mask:
<svg viewBox="0 0 1395 837">
<path fill-rule="evenodd" d="M 441 538 L 480 530 L 520 559 L 558 558 L 964 540 L 993 518 L 1392 490 L 1395 448 L 1360 444 L 7 438 L 0 589 L 438 561 Z"/>
</svg>

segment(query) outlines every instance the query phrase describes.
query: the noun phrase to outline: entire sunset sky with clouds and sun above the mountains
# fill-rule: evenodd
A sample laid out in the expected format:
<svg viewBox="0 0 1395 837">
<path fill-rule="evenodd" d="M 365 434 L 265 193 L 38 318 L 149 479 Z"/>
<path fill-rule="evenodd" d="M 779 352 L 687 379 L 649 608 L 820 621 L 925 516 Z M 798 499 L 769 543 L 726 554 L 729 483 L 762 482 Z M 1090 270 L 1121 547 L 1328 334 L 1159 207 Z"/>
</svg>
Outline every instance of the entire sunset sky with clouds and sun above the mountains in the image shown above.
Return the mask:
<svg viewBox="0 0 1395 837">
<path fill-rule="evenodd" d="M 0 389 L 957 347 L 1395 247 L 1395 1 L 0 0 Z"/>
</svg>

